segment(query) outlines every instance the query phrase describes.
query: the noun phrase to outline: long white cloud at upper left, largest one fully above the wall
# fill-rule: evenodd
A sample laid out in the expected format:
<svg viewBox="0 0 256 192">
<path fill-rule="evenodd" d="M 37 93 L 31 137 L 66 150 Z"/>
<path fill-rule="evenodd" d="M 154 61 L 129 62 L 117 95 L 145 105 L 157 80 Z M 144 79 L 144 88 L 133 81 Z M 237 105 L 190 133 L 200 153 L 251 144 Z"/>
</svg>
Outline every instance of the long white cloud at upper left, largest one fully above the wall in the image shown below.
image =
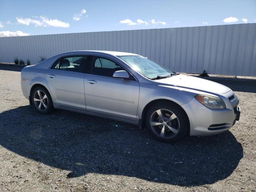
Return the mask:
<svg viewBox="0 0 256 192">
<path fill-rule="evenodd" d="M 62 21 L 57 20 L 57 19 L 48 19 L 45 16 L 40 16 L 39 19 L 38 19 L 38 17 L 34 17 L 34 18 L 37 18 L 37 19 L 16 17 L 16 20 L 20 24 L 24 24 L 24 25 L 34 24 L 36 27 L 37 26 L 69 27 L 70 26 L 69 23 L 62 22 Z"/>
</svg>

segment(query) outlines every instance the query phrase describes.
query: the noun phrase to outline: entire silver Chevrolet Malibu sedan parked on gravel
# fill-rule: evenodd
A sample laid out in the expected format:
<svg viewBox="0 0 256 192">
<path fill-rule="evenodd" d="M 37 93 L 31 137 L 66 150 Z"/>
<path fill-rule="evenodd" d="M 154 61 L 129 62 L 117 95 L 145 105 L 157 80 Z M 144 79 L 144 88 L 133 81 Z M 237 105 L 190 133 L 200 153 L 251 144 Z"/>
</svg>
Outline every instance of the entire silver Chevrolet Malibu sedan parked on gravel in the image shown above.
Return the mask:
<svg viewBox="0 0 256 192">
<path fill-rule="evenodd" d="M 21 72 L 40 114 L 54 108 L 136 124 L 162 142 L 207 136 L 239 120 L 239 100 L 221 84 L 172 72 L 138 54 L 72 51 Z"/>
</svg>

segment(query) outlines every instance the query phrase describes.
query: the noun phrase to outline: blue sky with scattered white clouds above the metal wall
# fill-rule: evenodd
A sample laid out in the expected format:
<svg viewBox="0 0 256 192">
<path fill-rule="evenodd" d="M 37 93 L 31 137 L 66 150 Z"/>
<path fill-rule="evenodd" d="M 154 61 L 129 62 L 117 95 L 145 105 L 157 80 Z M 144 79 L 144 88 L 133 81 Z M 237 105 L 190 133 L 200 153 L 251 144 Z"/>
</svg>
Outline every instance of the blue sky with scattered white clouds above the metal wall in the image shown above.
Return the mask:
<svg viewBox="0 0 256 192">
<path fill-rule="evenodd" d="M 0 0 L 0 36 L 256 22 L 256 0 Z"/>
</svg>

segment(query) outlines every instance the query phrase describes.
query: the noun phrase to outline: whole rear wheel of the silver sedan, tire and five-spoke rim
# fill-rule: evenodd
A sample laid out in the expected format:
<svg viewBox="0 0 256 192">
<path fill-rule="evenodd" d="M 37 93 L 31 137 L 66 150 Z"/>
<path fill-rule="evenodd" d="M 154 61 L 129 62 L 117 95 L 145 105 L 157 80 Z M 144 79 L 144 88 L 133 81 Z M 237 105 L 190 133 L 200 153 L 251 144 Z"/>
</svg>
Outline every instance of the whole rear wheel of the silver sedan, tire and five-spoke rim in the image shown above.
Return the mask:
<svg viewBox="0 0 256 192">
<path fill-rule="evenodd" d="M 44 87 L 34 88 L 31 95 L 31 101 L 36 112 L 40 114 L 49 114 L 54 109 L 50 93 Z"/>
</svg>

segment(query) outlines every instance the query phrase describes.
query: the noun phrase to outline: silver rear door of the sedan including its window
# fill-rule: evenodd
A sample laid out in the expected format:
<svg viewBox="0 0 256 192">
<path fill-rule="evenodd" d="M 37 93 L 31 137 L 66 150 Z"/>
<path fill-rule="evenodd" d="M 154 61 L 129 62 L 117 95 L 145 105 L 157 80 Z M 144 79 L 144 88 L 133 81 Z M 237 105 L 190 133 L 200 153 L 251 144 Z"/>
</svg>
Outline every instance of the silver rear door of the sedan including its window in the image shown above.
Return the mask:
<svg viewBox="0 0 256 192">
<path fill-rule="evenodd" d="M 87 55 L 62 57 L 44 74 L 58 105 L 85 110 L 84 71 L 87 59 Z"/>
</svg>

